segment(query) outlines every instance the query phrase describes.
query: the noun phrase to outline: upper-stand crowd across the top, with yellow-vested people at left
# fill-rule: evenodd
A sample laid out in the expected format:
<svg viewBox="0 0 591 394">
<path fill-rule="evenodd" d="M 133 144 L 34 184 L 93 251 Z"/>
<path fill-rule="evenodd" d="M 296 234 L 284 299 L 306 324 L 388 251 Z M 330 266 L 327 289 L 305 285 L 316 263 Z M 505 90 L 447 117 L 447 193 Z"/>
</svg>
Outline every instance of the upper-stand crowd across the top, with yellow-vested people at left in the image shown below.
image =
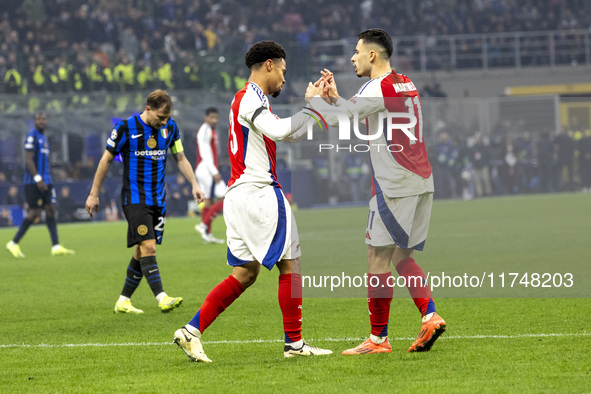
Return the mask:
<svg viewBox="0 0 591 394">
<path fill-rule="evenodd" d="M 393 36 L 569 30 L 588 26 L 583 0 L 4 0 L 1 92 L 151 89 L 234 91 L 242 54 L 284 43 L 305 71 L 310 44 L 367 27 Z M 493 45 L 494 48 L 494 45 Z M 460 48 L 461 50 L 461 48 Z M 236 56 L 240 54 L 240 56 Z"/>
</svg>

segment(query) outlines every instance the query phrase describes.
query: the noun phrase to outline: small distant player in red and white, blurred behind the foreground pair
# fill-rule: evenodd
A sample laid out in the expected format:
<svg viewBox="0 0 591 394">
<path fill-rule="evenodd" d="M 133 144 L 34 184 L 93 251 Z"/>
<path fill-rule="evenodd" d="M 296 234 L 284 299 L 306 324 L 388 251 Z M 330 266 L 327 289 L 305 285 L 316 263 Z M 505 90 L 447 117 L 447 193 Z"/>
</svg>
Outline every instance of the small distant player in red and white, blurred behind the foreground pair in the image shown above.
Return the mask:
<svg viewBox="0 0 591 394">
<path fill-rule="evenodd" d="M 206 243 L 222 244 L 224 240 L 211 233 L 211 222 L 224 209 L 226 184 L 218 170 L 218 136 L 215 126 L 218 124 L 219 111 L 209 107 L 205 110 L 205 122 L 197 131 L 197 167 L 195 177 L 205 193 L 201 208 L 201 223 L 195 230 Z M 214 203 L 214 198 L 218 201 Z"/>
</svg>

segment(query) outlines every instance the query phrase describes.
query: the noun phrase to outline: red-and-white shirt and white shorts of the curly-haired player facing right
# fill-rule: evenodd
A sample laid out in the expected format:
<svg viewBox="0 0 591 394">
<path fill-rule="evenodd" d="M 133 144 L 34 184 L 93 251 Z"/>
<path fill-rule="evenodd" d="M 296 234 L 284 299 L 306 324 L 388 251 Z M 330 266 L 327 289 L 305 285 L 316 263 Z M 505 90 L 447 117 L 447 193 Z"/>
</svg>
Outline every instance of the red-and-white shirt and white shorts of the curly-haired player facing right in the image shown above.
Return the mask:
<svg viewBox="0 0 591 394">
<path fill-rule="evenodd" d="M 294 140 L 308 119 L 302 112 L 285 119 L 274 115 L 253 82 L 234 96 L 228 142 L 232 174 L 224 206 L 228 264 L 256 260 L 270 270 L 301 255 L 295 218 L 277 180 L 275 141 Z"/>
</svg>

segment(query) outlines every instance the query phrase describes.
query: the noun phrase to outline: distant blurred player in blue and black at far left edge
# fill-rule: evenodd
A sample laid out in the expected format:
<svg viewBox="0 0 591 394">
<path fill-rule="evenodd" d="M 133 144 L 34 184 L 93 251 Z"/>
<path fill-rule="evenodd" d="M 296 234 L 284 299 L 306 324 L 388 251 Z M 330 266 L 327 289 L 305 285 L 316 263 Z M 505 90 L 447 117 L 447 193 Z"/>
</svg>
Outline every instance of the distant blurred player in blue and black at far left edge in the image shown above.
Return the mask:
<svg viewBox="0 0 591 394">
<path fill-rule="evenodd" d="M 22 221 L 14 238 L 6 244 L 6 249 L 16 258 L 25 255 L 18 244 L 31 224 L 45 211 L 45 221 L 51 236 L 52 256 L 73 254 L 74 251 L 60 245 L 57 235 L 55 217 L 55 189 L 49 169 L 49 141 L 45 136 L 47 116 L 39 112 L 33 117 L 35 128 L 25 139 L 25 198 L 27 200 L 27 216 Z"/>
</svg>

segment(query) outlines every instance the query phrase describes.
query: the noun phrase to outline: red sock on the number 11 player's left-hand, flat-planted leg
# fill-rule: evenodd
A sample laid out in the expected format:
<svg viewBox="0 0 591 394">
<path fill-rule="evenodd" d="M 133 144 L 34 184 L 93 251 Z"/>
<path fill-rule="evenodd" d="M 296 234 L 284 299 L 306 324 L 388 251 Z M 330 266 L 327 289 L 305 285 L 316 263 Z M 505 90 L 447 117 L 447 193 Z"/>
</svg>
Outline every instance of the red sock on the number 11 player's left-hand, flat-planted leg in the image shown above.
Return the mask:
<svg viewBox="0 0 591 394">
<path fill-rule="evenodd" d="M 388 320 L 390 320 L 390 304 L 394 295 L 392 283 L 388 283 L 391 272 L 384 274 L 367 274 L 367 305 L 372 335 L 388 336 Z M 391 280 L 390 280 L 391 281 Z"/>
</svg>

